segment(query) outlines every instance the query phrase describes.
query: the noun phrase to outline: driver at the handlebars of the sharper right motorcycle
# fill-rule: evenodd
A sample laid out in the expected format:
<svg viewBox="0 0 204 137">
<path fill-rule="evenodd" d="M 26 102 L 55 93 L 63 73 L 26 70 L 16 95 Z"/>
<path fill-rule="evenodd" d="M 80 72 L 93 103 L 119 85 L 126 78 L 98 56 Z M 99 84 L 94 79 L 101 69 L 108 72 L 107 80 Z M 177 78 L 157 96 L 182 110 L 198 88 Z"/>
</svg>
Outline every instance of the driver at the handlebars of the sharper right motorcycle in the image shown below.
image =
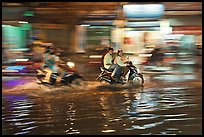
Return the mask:
<svg viewBox="0 0 204 137">
<path fill-rule="evenodd" d="M 124 57 L 122 49 L 118 49 L 117 56 L 114 59 L 114 64 L 118 64 L 122 67 L 123 74 L 122 79 L 124 81 L 128 80 L 130 69 L 127 67 L 127 62 L 129 62 L 129 57 Z"/>
</svg>

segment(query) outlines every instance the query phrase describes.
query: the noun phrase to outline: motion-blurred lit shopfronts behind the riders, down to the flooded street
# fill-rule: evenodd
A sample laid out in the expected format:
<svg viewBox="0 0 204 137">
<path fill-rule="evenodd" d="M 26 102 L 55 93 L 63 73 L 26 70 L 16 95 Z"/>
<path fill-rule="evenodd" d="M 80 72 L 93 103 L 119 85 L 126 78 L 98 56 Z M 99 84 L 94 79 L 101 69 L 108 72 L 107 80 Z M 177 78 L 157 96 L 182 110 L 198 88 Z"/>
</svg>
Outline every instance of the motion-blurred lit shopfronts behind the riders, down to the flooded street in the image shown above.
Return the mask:
<svg viewBox="0 0 204 137">
<path fill-rule="evenodd" d="M 195 64 L 202 56 L 202 3 L 2 3 L 3 65 L 38 66 L 49 44 L 89 66 L 101 65 L 109 46 L 144 70 Z"/>
</svg>

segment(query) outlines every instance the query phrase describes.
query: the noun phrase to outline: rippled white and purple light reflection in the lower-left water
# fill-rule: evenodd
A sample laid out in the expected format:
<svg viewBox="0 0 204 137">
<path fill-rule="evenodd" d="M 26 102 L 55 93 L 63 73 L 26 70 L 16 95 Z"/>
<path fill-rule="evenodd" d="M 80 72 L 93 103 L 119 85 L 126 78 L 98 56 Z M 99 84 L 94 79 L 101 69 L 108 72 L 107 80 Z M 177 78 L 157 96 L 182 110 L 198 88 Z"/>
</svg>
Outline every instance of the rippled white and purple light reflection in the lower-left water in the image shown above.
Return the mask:
<svg viewBox="0 0 204 137">
<path fill-rule="evenodd" d="M 28 134 L 33 129 L 37 128 L 36 121 L 31 118 L 31 111 L 33 102 L 28 100 L 25 95 L 8 95 L 5 97 L 7 107 L 3 107 L 3 110 L 7 110 L 9 113 L 2 113 L 3 117 L 3 133 L 6 134 Z M 9 130 L 12 128 L 12 133 Z M 9 130 L 9 132 L 4 132 Z"/>
</svg>

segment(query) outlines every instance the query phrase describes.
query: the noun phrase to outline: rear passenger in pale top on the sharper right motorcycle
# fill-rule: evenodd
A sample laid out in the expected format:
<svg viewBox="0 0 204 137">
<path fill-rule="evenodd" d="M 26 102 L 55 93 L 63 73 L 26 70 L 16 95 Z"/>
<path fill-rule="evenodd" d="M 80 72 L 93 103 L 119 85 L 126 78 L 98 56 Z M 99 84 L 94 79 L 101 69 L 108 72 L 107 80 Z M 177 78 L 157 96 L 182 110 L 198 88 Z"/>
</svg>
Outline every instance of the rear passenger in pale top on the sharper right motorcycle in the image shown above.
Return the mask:
<svg viewBox="0 0 204 137">
<path fill-rule="evenodd" d="M 122 68 L 118 64 L 113 64 L 113 51 L 112 47 L 108 48 L 108 53 L 105 54 L 103 59 L 103 65 L 106 69 L 113 71 L 111 76 L 116 82 L 122 82 L 120 79 Z"/>
</svg>

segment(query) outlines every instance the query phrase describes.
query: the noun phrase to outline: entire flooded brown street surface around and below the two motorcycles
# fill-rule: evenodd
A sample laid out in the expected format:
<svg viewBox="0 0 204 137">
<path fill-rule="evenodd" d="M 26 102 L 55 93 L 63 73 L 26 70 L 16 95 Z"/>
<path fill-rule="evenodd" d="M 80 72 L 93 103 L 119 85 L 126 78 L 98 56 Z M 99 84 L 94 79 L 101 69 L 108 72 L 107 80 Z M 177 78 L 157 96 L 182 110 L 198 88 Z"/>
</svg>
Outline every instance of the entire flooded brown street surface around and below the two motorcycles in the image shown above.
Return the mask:
<svg viewBox="0 0 204 137">
<path fill-rule="evenodd" d="M 178 73 L 144 73 L 145 84 L 138 87 L 100 84 L 99 65 L 74 61 L 86 88 L 2 77 L 3 135 L 202 134 L 201 63 L 179 65 Z"/>
</svg>

